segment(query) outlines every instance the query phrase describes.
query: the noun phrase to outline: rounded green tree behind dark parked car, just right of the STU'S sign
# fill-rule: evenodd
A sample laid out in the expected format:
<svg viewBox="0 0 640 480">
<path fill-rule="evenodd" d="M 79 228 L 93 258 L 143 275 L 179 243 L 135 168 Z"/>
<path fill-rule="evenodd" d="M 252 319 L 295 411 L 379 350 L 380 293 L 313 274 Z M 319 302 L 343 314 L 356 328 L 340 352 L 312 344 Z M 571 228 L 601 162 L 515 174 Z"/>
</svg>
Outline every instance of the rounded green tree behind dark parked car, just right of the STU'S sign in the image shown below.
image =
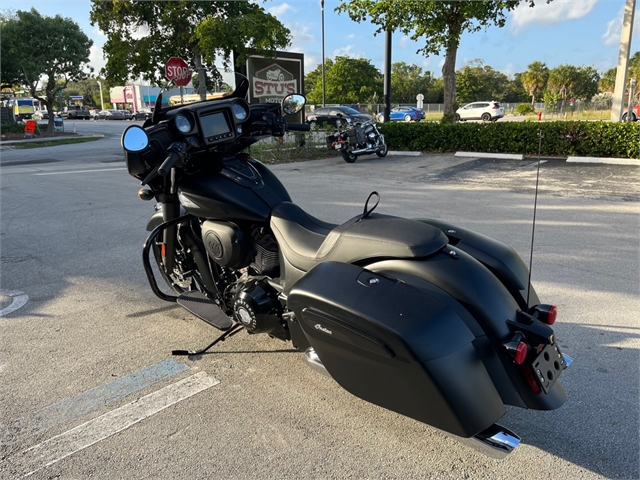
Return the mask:
<svg viewBox="0 0 640 480">
<path fill-rule="evenodd" d="M 325 61 L 326 103 L 369 103 L 382 96 L 382 74 L 370 60 L 337 56 Z M 322 103 L 322 65 L 305 77 L 305 94 L 311 104 Z"/>
</svg>

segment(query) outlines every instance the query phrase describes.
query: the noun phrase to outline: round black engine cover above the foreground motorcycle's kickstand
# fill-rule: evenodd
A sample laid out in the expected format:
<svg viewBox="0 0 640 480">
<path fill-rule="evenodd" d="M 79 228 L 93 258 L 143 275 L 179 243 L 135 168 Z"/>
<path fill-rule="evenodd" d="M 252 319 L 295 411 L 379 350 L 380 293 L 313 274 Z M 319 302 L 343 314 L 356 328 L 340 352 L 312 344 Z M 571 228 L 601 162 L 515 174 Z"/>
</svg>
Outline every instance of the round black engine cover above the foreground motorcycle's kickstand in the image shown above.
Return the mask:
<svg viewBox="0 0 640 480">
<path fill-rule="evenodd" d="M 289 339 L 280 316 L 277 292 L 266 280 L 252 280 L 244 284 L 236 293 L 233 312 L 249 333 L 267 333 L 281 340 Z"/>
</svg>

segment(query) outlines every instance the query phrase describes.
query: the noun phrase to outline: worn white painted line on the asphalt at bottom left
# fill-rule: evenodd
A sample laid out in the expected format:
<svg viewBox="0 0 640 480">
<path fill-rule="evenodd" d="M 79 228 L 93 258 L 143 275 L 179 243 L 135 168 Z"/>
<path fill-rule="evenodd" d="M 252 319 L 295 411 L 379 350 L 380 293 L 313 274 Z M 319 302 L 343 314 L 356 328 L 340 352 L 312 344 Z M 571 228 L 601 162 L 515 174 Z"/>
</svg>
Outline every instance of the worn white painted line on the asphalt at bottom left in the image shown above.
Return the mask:
<svg viewBox="0 0 640 480">
<path fill-rule="evenodd" d="M 219 383 L 206 372 L 198 372 L 168 385 L 14 455 L 8 462 L 12 474 L 18 477 L 32 475 Z"/>
</svg>

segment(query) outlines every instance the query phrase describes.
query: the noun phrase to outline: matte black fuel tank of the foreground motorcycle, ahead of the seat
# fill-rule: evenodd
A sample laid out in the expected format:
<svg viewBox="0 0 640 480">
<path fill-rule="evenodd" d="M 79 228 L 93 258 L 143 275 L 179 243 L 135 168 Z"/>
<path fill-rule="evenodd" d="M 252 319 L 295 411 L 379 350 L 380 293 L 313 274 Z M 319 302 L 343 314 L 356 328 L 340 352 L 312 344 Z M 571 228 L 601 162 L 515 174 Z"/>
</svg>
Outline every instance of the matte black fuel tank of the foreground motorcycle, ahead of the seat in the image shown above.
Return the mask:
<svg viewBox="0 0 640 480">
<path fill-rule="evenodd" d="M 257 160 L 225 159 L 220 170 L 198 171 L 180 180 L 181 205 L 200 218 L 267 222 L 271 209 L 291 197 L 273 173 Z"/>
</svg>

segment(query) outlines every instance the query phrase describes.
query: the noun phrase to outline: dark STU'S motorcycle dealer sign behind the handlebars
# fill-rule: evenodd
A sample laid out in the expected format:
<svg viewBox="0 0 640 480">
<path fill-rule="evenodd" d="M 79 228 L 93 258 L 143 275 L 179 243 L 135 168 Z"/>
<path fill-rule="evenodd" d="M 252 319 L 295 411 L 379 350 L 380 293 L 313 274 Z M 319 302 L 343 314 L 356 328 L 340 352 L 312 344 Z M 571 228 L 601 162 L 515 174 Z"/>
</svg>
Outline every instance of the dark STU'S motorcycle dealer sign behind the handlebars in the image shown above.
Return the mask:
<svg viewBox="0 0 640 480">
<path fill-rule="evenodd" d="M 275 58 L 250 55 L 247 58 L 247 78 L 250 103 L 280 103 L 292 93 L 304 92 L 304 55 L 276 52 Z M 302 122 L 303 114 L 285 117 L 291 122 Z"/>
</svg>

